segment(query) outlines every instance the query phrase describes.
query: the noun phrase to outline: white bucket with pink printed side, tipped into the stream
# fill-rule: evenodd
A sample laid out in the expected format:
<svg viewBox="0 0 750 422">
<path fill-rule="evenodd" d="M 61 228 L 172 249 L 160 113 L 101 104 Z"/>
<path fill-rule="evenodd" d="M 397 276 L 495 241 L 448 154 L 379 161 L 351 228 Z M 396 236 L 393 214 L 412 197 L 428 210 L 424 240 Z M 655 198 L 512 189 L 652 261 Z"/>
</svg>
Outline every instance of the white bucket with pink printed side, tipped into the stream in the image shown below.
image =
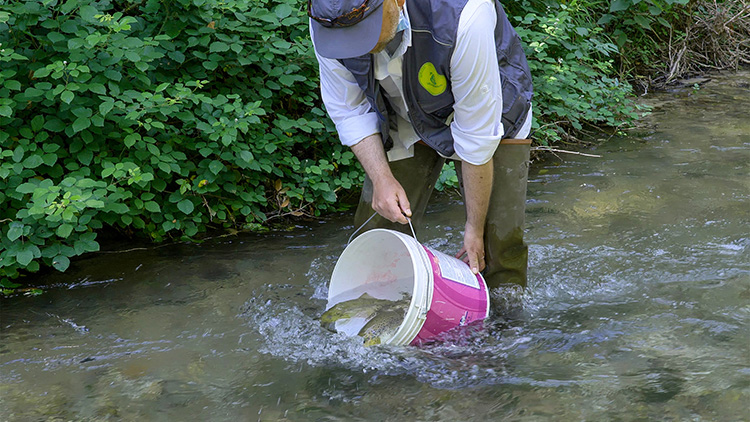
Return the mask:
<svg viewBox="0 0 750 422">
<path fill-rule="evenodd" d="M 367 231 L 344 249 L 333 269 L 326 309 L 363 293 L 387 300 L 411 296 L 403 322 L 383 344 L 417 345 L 489 315 L 481 275 L 394 230 Z"/>
</svg>

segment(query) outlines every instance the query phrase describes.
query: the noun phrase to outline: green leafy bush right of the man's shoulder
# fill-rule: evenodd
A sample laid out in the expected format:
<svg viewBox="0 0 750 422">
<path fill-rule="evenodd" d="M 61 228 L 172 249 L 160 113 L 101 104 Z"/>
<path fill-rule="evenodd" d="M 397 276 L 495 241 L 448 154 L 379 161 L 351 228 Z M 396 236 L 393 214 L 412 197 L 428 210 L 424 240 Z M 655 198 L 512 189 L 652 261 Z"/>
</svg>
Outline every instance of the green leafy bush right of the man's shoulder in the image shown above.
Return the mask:
<svg viewBox="0 0 750 422">
<path fill-rule="evenodd" d="M 534 78 L 534 139 L 574 139 L 584 126 L 619 127 L 638 118 L 630 84 L 618 78 L 617 45 L 586 4 L 521 1 L 508 15 L 527 47 Z"/>
</svg>

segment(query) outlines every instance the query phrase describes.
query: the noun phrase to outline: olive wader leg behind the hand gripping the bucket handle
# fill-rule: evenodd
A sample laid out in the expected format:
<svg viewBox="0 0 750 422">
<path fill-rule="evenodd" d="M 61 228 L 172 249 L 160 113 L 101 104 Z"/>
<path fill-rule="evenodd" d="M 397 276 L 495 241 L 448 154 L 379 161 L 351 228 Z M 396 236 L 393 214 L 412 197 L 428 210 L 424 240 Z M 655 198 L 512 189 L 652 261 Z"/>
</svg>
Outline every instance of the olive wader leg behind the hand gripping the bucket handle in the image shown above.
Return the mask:
<svg viewBox="0 0 750 422">
<path fill-rule="evenodd" d="M 422 222 L 427 202 L 435 188 L 435 182 L 440 177 L 440 171 L 443 169 L 444 163 L 443 157 L 432 148 L 422 144 L 414 145 L 413 157 L 388 163 L 393 176 L 401 183 L 406 191 L 406 197 L 409 198 L 412 212 L 411 220 L 415 227 Z M 372 189 L 372 180 L 365 176 L 362 195 L 359 197 L 359 205 L 354 214 L 356 228 L 364 224 L 375 213 L 375 210 L 372 209 Z M 393 223 L 380 215 L 376 215 L 358 233 L 361 234 L 374 228 L 391 229 L 411 235 L 408 224 Z"/>
</svg>

